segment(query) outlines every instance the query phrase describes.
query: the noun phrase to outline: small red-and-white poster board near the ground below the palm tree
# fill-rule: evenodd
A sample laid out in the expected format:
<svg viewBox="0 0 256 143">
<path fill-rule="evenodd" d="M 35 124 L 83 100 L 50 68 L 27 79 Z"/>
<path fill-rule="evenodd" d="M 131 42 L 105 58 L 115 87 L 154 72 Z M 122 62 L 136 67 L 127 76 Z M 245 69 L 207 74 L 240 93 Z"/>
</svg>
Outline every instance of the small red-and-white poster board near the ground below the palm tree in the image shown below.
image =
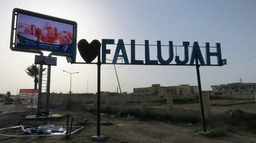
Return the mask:
<svg viewBox="0 0 256 143">
<path fill-rule="evenodd" d="M 37 108 L 38 104 L 38 89 L 20 89 L 19 99 L 23 105 L 28 105 L 28 108 Z"/>
</svg>

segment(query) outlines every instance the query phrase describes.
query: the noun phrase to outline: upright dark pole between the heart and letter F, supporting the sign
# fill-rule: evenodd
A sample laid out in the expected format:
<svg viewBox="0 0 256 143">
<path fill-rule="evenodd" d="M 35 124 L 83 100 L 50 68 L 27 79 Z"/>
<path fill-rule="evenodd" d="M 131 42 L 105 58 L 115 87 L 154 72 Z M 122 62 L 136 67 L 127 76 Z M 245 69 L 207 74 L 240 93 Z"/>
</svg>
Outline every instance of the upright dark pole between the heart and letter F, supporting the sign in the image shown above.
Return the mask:
<svg viewBox="0 0 256 143">
<path fill-rule="evenodd" d="M 97 89 L 97 137 L 101 136 L 101 53 L 98 53 L 98 89 Z"/>
</svg>

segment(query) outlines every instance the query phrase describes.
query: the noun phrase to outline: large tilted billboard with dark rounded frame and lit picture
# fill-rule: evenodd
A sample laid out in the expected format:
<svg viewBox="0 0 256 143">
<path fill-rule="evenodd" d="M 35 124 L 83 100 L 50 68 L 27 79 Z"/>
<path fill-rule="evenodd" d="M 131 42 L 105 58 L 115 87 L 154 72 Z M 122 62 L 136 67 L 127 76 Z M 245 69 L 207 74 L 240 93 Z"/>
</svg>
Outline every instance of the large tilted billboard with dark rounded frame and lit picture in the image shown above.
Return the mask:
<svg viewBox="0 0 256 143">
<path fill-rule="evenodd" d="M 36 12 L 15 8 L 11 32 L 11 48 L 52 51 L 60 55 L 76 55 L 77 23 Z"/>
</svg>

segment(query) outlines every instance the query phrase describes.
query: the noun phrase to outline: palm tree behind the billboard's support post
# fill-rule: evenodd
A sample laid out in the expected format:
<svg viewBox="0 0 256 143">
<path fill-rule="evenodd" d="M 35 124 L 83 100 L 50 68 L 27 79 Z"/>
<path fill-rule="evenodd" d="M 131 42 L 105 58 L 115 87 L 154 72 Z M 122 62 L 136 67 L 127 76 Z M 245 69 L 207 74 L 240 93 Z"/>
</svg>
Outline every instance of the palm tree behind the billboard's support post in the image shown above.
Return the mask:
<svg viewBox="0 0 256 143">
<path fill-rule="evenodd" d="M 46 70 L 46 68 L 43 68 L 43 71 L 44 70 Z M 32 66 L 28 66 L 24 71 L 26 71 L 27 75 L 34 78 L 34 82 L 35 82 L 34 89 L 38 89 L 38 79 L 39 79 L 39 71 L 40 71 L 39 67 L 36 66 L 35 64 L 32 64 Z"/>
</svg>

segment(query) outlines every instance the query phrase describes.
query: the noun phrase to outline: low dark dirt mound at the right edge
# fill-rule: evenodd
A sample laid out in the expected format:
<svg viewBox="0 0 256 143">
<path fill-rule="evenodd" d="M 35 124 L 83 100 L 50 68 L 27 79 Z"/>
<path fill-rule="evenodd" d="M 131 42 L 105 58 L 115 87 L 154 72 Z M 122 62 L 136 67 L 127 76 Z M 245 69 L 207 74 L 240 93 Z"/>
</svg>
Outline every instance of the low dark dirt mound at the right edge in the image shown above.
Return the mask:
<svg viewBox="0 0 256 143">
<path fill-rule="evenodd" d="M 242 129 L 243 131 L 256 130 L 256 114 L 244 112 L 242 110 L 229 110 L 209 120 L 209 124 L 215 127 L 229 126 L 234 131 Z"/>
</svg>

